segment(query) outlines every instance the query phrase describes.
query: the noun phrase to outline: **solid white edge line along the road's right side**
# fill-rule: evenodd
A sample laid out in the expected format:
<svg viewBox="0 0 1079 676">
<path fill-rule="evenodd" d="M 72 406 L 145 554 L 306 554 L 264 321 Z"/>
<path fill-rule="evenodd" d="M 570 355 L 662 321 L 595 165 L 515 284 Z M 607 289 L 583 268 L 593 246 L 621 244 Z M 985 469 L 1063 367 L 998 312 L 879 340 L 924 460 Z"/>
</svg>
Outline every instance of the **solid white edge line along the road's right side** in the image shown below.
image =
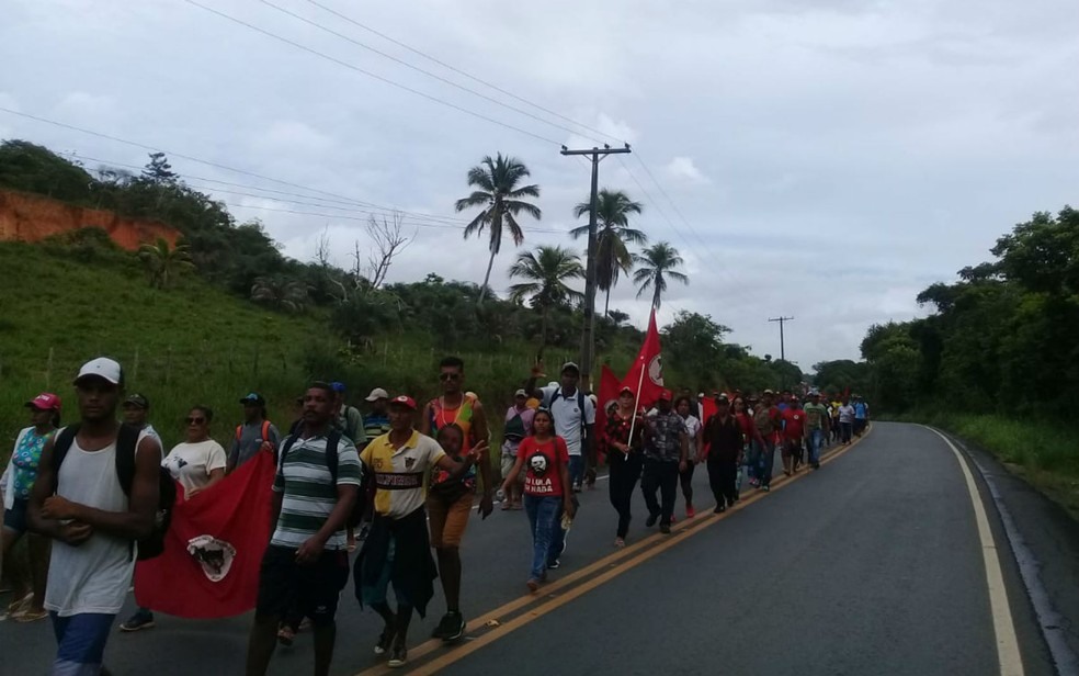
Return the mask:
<svg viewBox="0 0 1079 676">
<path fill-rule="evenodd" d="M 992 630 L 997 638 L 997 663 L 1000 667 L 1001 676 L 1024 676 L 1023 657 L 1019 650 L 1019 638 L 1015 635 L 1015 622 L 1012 620 L 1011 606 L 1008 604 L 1008 589 L 1004 587 L 1004 576 L 1000 570 L 1000 559 L 997 542 L 992 537 L 992 529 L 989 528 L 989 518 L 986 516 L 986 508 L 981 503 L 978 486 L 974 483 L 974 475 L 967 466 L 966 459 L 959 452 L 952 440 L 933 429 L 922 425 L 925 429 L 940 437 L 947 448 L 952 449 L 955 460 L 963 470 L 963 477 L 966 480 L 967 491 L 970 494 L 970 504 L 974 507 L 974 518 L 978 523 L 978 538 L 981 540 L 981 560 L 986 566 L 986 586 L 989 588 L 989 607 L 992 612 Z"/>
</svg>

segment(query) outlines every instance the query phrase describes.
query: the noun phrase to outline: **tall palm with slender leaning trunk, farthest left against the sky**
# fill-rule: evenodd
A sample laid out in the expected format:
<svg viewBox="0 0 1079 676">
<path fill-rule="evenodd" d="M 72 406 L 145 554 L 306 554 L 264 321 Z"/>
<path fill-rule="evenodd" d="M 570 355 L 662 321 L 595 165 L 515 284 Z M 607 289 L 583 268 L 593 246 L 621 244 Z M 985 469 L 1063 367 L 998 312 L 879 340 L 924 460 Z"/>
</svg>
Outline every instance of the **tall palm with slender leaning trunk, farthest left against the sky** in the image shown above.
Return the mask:
<svg viewBox="0 0 1079 676">
<path fill-rule="evenodd" d="M 468 184 L 474 190 L 467 198 L 457 200 L 456 210 L 458 212 L 481 206 L 482 211 L 473 218 L 472 223 L 465 227 L 465 239 L 469 235 L 481 235 L 484 228 L 489 228 L 491 258 L 487 261 L 487 274 L 484 277 L 484 286 L 479 290 L 478 305 L 484 304 L 484 296 L 487 295 L 487 283 L 491 279 L 491 267 L 495 266 L 495 257 L 502 248 L 502 226 L 507 226 L 510 235 L 513 236 L 513 244 L 521 246 L 524 241 L 524 230 L 516 222 L 516 216 L 524 212 L 538 221 L 543 217 L 540 207 L 524 202 L 521 198 L 538 198 L 538 185 L 522 185 L 518 183 L 526 176 L 530 176 L 529 168 L 515 157 L 502 157 L 499 153 L 495 159 L 488 155 L 484 160 L 468 170 Z"/>
</svg>

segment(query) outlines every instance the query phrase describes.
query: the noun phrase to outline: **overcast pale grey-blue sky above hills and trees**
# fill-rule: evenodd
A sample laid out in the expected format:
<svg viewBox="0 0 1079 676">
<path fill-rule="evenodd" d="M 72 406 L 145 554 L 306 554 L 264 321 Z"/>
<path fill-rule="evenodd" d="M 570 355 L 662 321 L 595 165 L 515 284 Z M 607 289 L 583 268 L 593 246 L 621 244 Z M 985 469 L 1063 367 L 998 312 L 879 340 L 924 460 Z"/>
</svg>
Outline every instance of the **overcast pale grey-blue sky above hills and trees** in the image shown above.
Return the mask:
<svg viewBox="0 0 1079 676">
<path fill-rule="evenodd" d="M 497 151 L 523 160 L 543 190 L 543 221 L 526 224 L 543 232 L 525 246 L 581 246 L 563 233 L 577 225 L 589 168 L 558 147 L 611 138 L 308 0 L 272 1 L 540 120 L 265 2 L 198 1 L 325 57 L 184 0 L 5 0 L 0 106 L 293 183 L 172 157 L 183 174 L 249 187 L 235 192 L 308 202 L 216 193 L 298 259 L 328 228 L 348 264 L 365 214 L 328 209 L 347 198 L 441 217 L 410 221 L 439 227 L 417 228 L 390 281 L 481 282 L 486 241 L 462 239 L 453 203 L 468 193 L 468 168 Z M 804 370 L 859 358 L 871 324 L 918 315 L 920 290 L 987 260 L 1014 223 L 1079 202 L 1075 0 L 319 2 L 631 143 L 633 156 L 601 165 L 600 183 L 645 203 L 636 225 L 673 244 L 691 280 L 672 285 L 660 322 L 682 308 L 709 314 L 732 340 L 777 356 L 766 319 L 794 316 L 787 357 Z M 3 112 L 0 137 L 95 158 L 91 169 L 146 160 L 144 149 Z M 499 292 L 514 255 L 507 241 Z M 647 301 L 635 296 L 623 282 L 612 306 L 644 326 Z"/>
</svg>

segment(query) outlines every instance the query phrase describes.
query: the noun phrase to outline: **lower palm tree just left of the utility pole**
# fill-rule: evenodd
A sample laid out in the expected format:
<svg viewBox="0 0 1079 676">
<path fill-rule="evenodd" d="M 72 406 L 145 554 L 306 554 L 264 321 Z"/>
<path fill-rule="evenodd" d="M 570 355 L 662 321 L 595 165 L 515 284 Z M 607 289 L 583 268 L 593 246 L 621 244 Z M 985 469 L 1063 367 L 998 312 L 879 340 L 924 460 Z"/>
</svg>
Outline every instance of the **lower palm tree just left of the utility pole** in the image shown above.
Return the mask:
<svg viewBox="0 0 1079 676">
<path fill-rule="evenodd" d="M 529 280 L 510 286 L 510 300 L 523 303 L 525 298 L 532 307 L 540 311 L 541 353 L 547 345 L 547 315 L 550 308 L 572 301 L 581 301 L 584 294 L 570 289 L 566 282 L 584 278 L 581 259 L 561 247 L 540 247 L 535 252 L 518 256 L 510 267 L 510 278 Z"/>
</svg>

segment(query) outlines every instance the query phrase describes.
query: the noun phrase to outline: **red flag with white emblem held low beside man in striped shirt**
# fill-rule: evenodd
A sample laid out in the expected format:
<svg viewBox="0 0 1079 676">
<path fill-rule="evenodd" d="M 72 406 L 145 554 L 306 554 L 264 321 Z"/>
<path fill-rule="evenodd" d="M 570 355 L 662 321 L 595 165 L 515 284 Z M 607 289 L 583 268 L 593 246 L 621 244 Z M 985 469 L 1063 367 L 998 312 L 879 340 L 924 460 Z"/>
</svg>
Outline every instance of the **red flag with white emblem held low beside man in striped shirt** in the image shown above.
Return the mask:
<svg viewBox="0 0 1079 676">
<path fill-rule="evenodd" d="M 260 452 L 190 502 L 179 489 L 164 552 L 135 565 L 138 605 L 182 618 L 254 608 L 275 471 L 273 453 Z"/>
</svg>

